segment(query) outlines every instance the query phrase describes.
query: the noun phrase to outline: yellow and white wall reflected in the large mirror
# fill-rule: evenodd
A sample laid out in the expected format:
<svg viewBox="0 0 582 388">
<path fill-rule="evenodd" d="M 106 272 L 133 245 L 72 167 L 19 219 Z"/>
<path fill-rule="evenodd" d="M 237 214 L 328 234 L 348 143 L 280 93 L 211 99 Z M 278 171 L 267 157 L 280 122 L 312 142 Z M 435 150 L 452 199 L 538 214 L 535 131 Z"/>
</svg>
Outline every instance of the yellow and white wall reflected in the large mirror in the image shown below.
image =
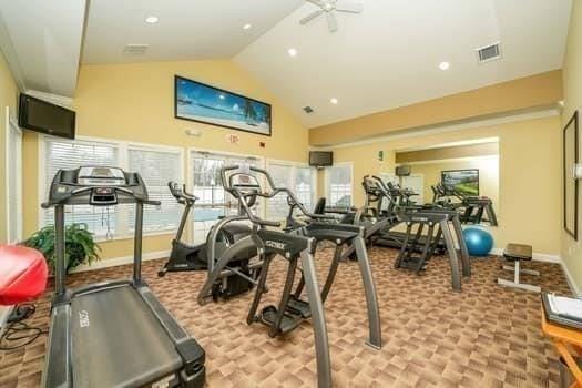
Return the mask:
<svg viewBox="0 0 582 388">
<path fill-rule="evenodd" d="M 412 164 L 412 174 L 421 174 L 423 182 L 425 202 L 432 201 L 431 185 L 440 182 L 441 172 L 447 170 L 479 170 L 479 195 L 487 196 L 493 201 L 493 208 L 499 213 L 499 157 L 487 156 L 466 159 L 458 161 L 435 161 L 421 164 Z M 500 217 L 500 214 L 497 214 Z"/>
</svg>

